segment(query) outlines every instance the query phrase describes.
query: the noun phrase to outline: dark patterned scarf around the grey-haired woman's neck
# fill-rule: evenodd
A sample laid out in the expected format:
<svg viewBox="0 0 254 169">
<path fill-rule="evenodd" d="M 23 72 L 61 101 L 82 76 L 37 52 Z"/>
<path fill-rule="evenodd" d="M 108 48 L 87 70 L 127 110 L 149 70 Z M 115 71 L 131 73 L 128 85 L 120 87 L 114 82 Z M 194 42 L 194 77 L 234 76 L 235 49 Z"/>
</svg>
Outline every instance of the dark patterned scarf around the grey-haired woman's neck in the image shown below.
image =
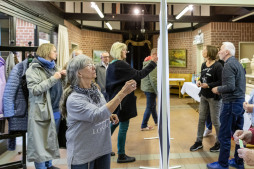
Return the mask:
<svg viewBox="0 0 254 169">
<path fill-rule="evenodd" d="M 95 84 L 91 84 L 91 88 L 89 89 L 85 89 L 85 88 L 80 88 L 77 85 L 73 86 L 73 89 L 77 92 L 77 93 L 81 93 L 86 95 L 88 98 L 92 99 L 92 101 L 95 104 L 99 104 L 100 103 L 100 93 L 98 91 L 98 88 Z"/>
</svg>

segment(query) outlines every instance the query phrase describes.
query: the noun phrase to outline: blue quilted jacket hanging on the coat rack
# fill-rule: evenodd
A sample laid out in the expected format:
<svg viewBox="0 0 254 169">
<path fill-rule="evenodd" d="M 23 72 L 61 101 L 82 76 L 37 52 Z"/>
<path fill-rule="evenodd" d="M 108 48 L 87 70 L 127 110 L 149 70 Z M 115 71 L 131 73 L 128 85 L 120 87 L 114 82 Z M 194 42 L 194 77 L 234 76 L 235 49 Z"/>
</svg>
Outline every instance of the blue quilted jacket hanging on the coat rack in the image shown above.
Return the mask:
<svg viewBox="0 0 254 169">
<path fill-rule="evenodd" d="M 27 69 L 27 59 L 12 69 L 3 95 L 4 117 L 9 119 L 9 130 L 27 130 L 28 104 L 23 94 L 21 79 Z"/>
</svg>

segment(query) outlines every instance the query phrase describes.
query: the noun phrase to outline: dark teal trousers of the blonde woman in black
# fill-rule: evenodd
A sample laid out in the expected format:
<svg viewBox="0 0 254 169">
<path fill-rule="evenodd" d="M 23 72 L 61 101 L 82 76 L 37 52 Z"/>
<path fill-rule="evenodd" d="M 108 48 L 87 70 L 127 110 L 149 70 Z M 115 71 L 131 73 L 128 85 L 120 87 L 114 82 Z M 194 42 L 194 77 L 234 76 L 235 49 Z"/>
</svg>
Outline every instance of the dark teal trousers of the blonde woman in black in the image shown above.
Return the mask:
<svg viewBox="0 0 254 169">
<path fill-rule="evenodd" d="M 130 120 L 119 122 L 118 124 L 114 125 L 111 124 L 111 135 L 114 133 L 115 129 L 119 126 L 118 131 L 118 138 L 117 138 L 117 149 L 118 154 L 125 154 L 125 142 L 126 142 L 126 134 L 129 128 Z"/>
</svg>

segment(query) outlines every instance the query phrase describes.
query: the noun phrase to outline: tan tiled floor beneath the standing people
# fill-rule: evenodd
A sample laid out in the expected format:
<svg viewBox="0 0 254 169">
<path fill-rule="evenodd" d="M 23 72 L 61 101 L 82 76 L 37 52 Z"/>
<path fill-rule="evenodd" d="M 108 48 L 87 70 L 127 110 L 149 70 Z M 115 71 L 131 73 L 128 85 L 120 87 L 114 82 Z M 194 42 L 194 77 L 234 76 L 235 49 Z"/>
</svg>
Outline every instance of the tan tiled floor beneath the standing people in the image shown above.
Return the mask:
<svg viewBox="0 0 254 169">
<path fill-rule="evenodd" d="M 111 159 L 112 169 L 138 169 L 140 166 L 158 168 L 159 166 L 159 140 L 144 140 L 144 138 L 157 137 L 157 127 L 152 131 L 140 131 L 140 125 L 145 110 L 146 97 L 140 90 L 136 91 L 138 116 L 130 120 L 127 133 L 126 154 L 135 156 L 137 161 L 133 163 L 118 164 L 117 156 Z M 181 166 L 182 169 L 205 169 L 207 163 L 218 160 L 219 153 L 210 153 L 209 149 L 215 142 L 215 130 L 204 138 L 204 148 L 199 151 L 190 152 L 190 146 L 194 144 L 197 135 L 198 112 L 197 103 L 191 98 L 178 98 L 178 95 L 170 96 L 170 166 Z M 154 126 L 152 117 L 149 125 Z M 112 136 L 113 151 L 117 152 L 117 133 Z M 232 142 L 233 143 L 233 142 Z M 234 145 L 234 143 L 233 143 Z M 233 148 L 233 146 L 232 146 Z M 0 164 L 7 161 L 15 161 L 21 158 L 17 152 L 21 146 L 17 146 L 14 152 L 6 152 L 0 156 Z M 233 157 L 231 149 L 231 157 Z M 67 168 L 66 151 L 61 150 L 61 159 L 53 160 L 54 165 Z M 28 169 L 34 168 L 33 163 L 27 163 Z M 253 168 L 246 166 L 246 168 Z"/>
</svg>

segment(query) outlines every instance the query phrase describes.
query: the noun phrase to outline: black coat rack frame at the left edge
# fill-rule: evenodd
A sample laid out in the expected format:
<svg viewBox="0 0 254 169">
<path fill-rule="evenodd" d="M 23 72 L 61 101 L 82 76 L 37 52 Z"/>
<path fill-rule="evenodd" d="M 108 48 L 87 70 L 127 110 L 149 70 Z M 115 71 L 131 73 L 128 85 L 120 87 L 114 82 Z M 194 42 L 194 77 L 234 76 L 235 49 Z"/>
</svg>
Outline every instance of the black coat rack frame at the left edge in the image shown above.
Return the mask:
<svg viewBox="0 0 254 169">
<path fill-rule="evenodd" d="M 28 43 L 29 44 L 29 43 Z M 31 43 L 29 44 L 29 46 Z M 22 52 L 22 61 L 25 60 L 26 52 L 36 52 L 38 47 L 23 47 L 23 46 L 0 46 L 0 51 L 5 52 Z M 4 118 L 3 118 L 4 119 Z M 18 132 L 15 134 L 0 134 L 0 140 L 3 139 L 11 139 L 16 137 L 22 137 L 23 145 L 22 145 L 22 160 L 15 161 L 11 163 L 6 163 L 0 165 L 1 169 L 10 169 L 10 168 L 23 168 L 26 169 L 26 132 Z"/>
</svg>

